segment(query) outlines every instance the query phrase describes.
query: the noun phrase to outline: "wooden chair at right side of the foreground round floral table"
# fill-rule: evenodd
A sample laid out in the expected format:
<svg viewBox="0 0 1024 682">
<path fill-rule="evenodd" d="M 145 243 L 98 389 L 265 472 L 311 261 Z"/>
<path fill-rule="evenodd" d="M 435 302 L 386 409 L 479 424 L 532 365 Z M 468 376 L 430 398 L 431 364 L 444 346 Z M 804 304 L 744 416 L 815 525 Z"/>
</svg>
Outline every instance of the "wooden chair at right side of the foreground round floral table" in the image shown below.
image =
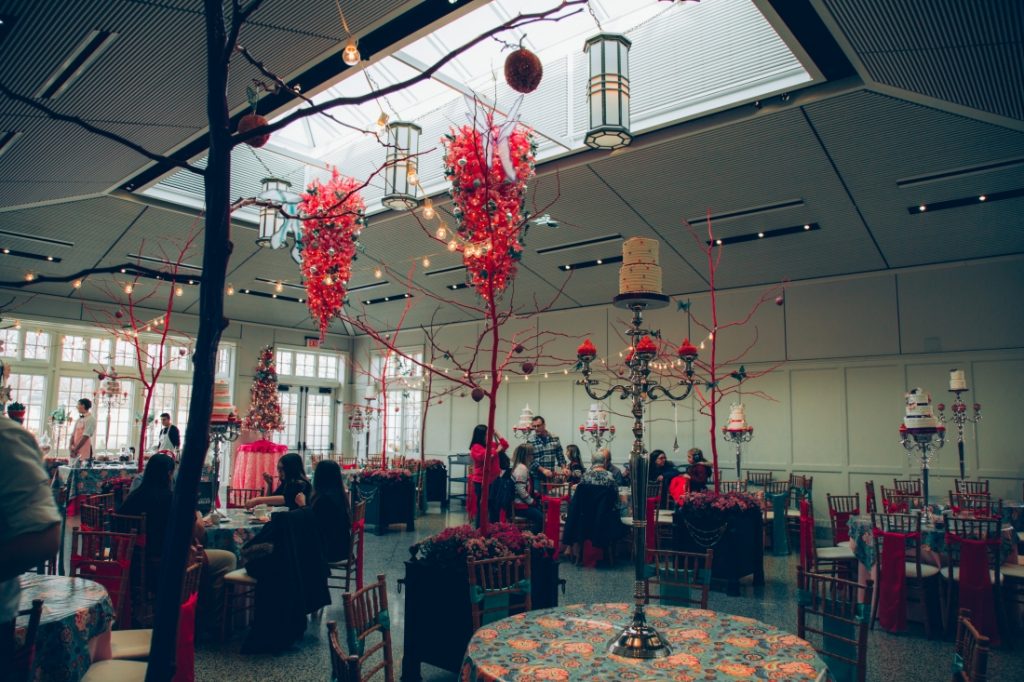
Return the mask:
<svg viewBox="0 0 1024 682">
<path fill-rule="evenodd" d="M 797 636 L 811 642 L 829 668 L 852 666 L 857 682 L 867 677 L 867 620 L 874 585 L 860 585 L 797 568 Z M 814 635 L 812 639 L 809 635 Z M 837 679 L 838 676 L 837 676 Z M 851 678 L 842 678 L 851 679 Z"/>
</svg>

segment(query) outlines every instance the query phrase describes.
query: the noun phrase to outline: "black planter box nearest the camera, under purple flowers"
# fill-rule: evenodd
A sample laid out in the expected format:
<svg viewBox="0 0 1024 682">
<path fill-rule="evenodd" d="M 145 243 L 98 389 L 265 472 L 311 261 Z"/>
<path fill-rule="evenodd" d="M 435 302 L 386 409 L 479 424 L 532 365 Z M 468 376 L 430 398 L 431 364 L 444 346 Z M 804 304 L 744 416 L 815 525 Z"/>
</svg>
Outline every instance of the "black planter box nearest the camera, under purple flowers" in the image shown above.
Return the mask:
<svg viewBox="0 0 1024 682">
<path fill-rule="evenodd" d="M 529 570 L 534 609 L 557 606 L 558 562 L 532 557 Z M 403 682 L 423 679 L 421 664 L 458 673 L 473 635 L 466 572 L 451 566 L 407 561 L 401 585 L 406 595 L 401 679 Z"/>
</svg>

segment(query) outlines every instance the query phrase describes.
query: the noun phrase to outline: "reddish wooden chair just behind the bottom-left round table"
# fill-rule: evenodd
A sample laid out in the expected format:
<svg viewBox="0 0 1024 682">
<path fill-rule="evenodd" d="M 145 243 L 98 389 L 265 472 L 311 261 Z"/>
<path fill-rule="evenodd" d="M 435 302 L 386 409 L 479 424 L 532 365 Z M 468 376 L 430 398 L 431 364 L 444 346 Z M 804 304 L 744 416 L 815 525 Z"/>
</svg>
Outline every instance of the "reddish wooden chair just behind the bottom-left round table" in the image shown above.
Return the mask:
<svg viewBox="0 0 1024 682">
<path fill-rule="evenodd" d="M 106 588 L 116 613 L 115 627 L 124 627 L 130 622 L 129 577 L 134 552 L 133 534 L 72 529 L 71 576 Z"/>
</svg>

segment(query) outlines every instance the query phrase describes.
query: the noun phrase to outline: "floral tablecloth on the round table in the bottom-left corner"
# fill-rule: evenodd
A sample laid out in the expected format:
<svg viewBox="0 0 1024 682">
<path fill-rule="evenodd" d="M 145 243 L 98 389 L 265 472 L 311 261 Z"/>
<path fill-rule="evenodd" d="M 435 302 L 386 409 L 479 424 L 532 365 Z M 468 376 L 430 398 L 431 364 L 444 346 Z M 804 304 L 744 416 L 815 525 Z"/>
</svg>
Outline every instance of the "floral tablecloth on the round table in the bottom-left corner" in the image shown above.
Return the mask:
<svg viewBox="0 0 1024 682">
<path fill-rule="evenodd" d="M 98 583 L 80 578 L 20 577 L 19 609 L 43 600 L 43 615 L 36 634 L 36 657 L 31 679 L 37 682 L 77 682 L 93 660 L 111 657 L 114 605 Z M 25 637 L 28 619 L 18 620 L 17 637 Z"/>
</svg>

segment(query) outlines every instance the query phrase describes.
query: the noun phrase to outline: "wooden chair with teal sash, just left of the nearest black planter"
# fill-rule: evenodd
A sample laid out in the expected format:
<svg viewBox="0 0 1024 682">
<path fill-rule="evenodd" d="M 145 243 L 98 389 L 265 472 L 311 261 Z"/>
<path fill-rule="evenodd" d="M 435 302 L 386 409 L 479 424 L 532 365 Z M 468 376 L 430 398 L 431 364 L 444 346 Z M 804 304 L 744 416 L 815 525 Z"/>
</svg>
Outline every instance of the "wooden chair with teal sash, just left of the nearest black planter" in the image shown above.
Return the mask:
<svg viewBox="0 0 1024 682">
<path fill-rule="evenodd" d="M 387 610 L 387 580 L 383 574 L 361 590 L 344 595 L 345 639 L 350 654 L 358 658 L 359 682 L 384 671 L 384 682 L 394 682 L 394 658 L 391 652 L 391 623 Z M 368 640 L 380 635 L 380 641 L 368 646 Z M 381 660 L 369 667 L 368 660 L 380 652 Z"/>
</svg>

